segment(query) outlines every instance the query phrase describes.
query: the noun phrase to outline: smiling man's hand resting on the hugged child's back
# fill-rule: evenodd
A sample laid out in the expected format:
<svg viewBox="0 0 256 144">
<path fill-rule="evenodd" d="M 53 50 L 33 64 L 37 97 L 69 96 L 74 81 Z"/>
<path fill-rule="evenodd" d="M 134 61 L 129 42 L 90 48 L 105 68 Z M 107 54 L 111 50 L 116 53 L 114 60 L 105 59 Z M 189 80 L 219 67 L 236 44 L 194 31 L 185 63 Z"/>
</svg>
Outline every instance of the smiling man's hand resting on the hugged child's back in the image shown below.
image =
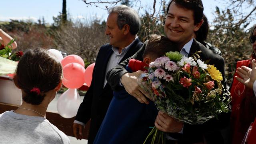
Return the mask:
<svg viewBox="0 0 256 144">
<path fill-rule="evenodd" d="M 134 96 L 140 103 L 149 104 L 146 97 L 151 99 L 150 95 L 148 92 L 145 92 L 138 84 L 138 81 L 140 80 L 140 74 L 142 73 L 144 72 L 141 70 L 132 73 L 127 72 L 122 75 L 121 83 L 124 86 L 126 92 Z"/>
</svg>

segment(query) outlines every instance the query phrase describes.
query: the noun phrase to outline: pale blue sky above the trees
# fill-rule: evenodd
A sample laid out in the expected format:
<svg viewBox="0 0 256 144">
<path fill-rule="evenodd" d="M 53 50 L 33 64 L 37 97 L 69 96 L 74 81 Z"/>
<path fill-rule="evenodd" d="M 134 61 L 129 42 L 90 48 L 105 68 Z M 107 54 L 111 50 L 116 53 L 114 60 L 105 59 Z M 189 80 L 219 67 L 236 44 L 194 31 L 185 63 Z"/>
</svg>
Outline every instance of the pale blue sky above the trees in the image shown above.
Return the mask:
<svg viewBox="0 0 256 144">
<path fill-rule="evenodd" d="M 84 18 L 84 20 L 92 20 L 94 18 L 106 20 L 108 14 L 107 10 L 97 8 L 95 6 L 88 6 L 82 0 L 66 0 L 67 11 L 73 19 Z M 93 0 L 91 0 L 93 1 Z M 96 1 L 96 0 L 94 0 Z M 159 6 L 157 0 L 157 6 Z M 145 10 L 149 10 L 153 5 L 153 0 L 141 0 L 141 6 Z M 213 12 L 215 6 L 221 7 L 216 0 L 202 0 L 204 4 L 204 13 L 211 23 L 214 19 Z M 134 9 L 138 7 L 134 6 Z M 1 0 L 1 14 L 0 21 L 8 21 L 9 19 L 18 20 L 34 20 L 36 22 L 39 18 L 44 17 L 46 23 L 52 23 L 52 17 L 57 16 L 62 11 L 62 0 Z M 141 10 L 144 12 L 144 10 Z"/>
</svg>

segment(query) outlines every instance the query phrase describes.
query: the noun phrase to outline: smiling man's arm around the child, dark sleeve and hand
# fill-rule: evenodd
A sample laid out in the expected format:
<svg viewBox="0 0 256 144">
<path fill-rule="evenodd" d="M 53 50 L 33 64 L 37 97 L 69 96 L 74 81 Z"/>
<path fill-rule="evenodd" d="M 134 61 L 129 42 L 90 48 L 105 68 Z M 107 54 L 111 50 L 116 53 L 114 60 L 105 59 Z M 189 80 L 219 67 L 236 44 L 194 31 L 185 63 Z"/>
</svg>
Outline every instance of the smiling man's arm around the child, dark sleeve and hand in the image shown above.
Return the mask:
<svg viewBox="0 0 256 144">
<path fill-rule="evenodd" d="M 146 42 L 144 42 L 142 48 L 138 50 L 136 54 L 132 57 L 124 60 L 124 62 L 118 64 L 115 68 L 112 68 L 107 73 L 107 81 L 110 84 L 112 90 L 120 90 L 120 82 L 124 86 L 126 92 L 130 95 L 134 96 L 139 102 L 148 104 L 148 100 L 146 97 L 149 97 L 148 93 L 142 90 L 138 84 L 138 80 L 140 78 L 140 74 L 143 71 L 139 70 L 137 72 L 128 73 L 125 69 L 131 58 L 143 61 L 142 55 L 146 47 Z"/>
</svg>

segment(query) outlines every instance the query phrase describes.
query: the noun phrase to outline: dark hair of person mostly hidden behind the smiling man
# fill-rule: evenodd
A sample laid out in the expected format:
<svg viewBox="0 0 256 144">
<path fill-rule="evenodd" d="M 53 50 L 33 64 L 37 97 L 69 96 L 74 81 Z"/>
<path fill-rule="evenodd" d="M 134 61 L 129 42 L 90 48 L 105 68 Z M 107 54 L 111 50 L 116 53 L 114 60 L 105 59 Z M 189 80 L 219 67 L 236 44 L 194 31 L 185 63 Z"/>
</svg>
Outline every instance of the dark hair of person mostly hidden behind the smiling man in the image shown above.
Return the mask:
<svg viewBox="0 0 256 144">
<path fill-rule="evenodd" d="M 202 26 L 199 28 L 198 31 L 195 32 L 196 34 L 196 40 L 198 42 L 200 42 L 201 44 L 204 43 L 204 41 L 207 38 L 208 35 L 208 31 L 209 31 L 209 23 L 208 23 L 208 19 L 206 18 L 205 15 L 203 15 L 204 23 L 202 24 Z"/>
</svg>

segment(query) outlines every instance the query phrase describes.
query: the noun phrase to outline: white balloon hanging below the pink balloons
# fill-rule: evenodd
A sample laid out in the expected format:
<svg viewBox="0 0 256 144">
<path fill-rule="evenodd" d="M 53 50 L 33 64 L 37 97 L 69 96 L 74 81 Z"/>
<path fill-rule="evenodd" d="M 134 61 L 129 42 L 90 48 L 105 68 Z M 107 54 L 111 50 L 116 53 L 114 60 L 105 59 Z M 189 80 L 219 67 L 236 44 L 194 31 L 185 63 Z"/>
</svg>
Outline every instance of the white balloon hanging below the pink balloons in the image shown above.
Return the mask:
<svg viewBox="0 0 256 144">
<path fill-rule="evenodd" d="M 77 90 L 69 88 L 58 98 L 57 110 L 63 118 L 72 118 L 76 116 L 80 104 L 81 100 Z"/>
</svg>

